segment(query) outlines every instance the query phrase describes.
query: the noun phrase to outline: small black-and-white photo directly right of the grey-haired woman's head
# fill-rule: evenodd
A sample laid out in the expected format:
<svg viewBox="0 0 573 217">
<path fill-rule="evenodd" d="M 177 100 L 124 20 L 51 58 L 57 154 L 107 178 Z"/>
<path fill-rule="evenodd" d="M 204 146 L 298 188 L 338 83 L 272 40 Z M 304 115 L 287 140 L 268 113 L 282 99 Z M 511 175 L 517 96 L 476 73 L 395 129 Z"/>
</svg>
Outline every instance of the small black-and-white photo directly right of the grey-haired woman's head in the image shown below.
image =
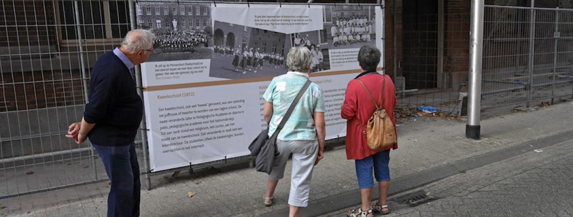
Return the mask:
<svg viewBox="0 0 573 217">
<path fill-rule="evenodd" d="M 326 48 L 327 43 L 321 41 L 322 38 L 320 34 L 321 30 L 289 34 L 292 46 L 305 46 L 311 50 L 311 72 L 320 72 L 330 69 L 328 48 Z"/>
</svg>

